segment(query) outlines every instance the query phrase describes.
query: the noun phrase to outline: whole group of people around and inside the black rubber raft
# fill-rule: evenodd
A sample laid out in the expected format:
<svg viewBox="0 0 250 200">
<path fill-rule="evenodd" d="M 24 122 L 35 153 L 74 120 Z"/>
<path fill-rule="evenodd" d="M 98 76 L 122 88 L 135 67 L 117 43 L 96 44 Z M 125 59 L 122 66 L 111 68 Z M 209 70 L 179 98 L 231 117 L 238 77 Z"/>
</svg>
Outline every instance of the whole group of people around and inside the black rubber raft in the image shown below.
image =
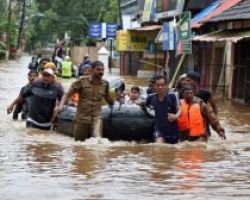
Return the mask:
<svg viewBox="0 0 250 200">
<path fill-rule="evenodd" d="M 101 107 L 105 99 L 111 110 L 117 101 L 152 107 L 155 111 L 152 134 L 157 143 L 207 141 L 209 126 L 226 139 L 216 116 L 213 97 L 210 92 L 199 88 L 200 75 L 197 72 L 180 76 L 174 89 L 167 88 L 165 77 L 154 76 L 150 79 L 148 95 L 143 99 L 138 86 L 133 86 L 129 95 L 118 89 L 113 97 L 109 83 L 102 78 L 104 65 L 100 61 L 84 65 L 82 76 L 72 83 L 66 93 L 56 79 L 55 64 L 43 58 L 40 64 L 39 73 L 34 69 L 29 71 L 29 83 L 7 108 L 7 113 L 14 110 L 13 119 L 17 119 L 26 104 L 22 118 L 26 119 L 27 128 L 50 130 L 56 115 L 68 104 L 77 107 L 73 130 L 75 140 L 102 137 Z"/>
</svg>

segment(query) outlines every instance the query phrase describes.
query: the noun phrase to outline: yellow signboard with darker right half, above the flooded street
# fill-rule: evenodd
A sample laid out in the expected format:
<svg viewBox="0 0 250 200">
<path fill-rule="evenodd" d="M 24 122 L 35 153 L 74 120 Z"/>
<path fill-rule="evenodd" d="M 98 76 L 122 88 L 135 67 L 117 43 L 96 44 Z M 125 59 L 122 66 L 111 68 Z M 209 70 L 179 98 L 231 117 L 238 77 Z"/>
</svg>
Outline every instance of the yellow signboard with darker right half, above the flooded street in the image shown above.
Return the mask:
<svg viewBox="0 0 250 200">
<path fill-rule="evenodd" d="M 118 51 L 144 51 L 148 46 L 146 33 L 139 31 L 118 31 L 117 50 Z"/>
</svg>

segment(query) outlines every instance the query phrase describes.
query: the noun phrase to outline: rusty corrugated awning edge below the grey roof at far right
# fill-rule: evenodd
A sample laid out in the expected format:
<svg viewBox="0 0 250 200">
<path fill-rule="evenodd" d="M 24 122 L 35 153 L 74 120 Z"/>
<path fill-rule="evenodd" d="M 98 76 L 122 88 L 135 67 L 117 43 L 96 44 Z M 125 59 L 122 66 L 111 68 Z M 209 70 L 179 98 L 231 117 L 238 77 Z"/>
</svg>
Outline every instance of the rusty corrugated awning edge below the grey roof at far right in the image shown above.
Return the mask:
<svg viewBox="0 0 250 200">
<path fill-rule="evenodd" d="M 243 39 L 250 39 L 250 31 L 217 31 L 213 33 L 197 35 L 192 37 L 193 41 L 200 41 L 200 42 L 225 42 L 231 41 L 237 43 Z"/>
</svg>

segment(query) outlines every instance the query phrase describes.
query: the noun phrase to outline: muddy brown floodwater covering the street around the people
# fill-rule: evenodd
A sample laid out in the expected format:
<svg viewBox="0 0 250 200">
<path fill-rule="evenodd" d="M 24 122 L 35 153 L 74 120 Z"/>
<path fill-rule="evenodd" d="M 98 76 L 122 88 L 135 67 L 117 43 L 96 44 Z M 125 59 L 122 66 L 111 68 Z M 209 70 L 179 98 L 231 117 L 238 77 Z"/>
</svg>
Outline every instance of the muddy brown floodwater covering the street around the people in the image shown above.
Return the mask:
<svg viewBox="0 0 250 200">
<path fill-rule="evenodd" d="M 0 63 L 1 200 L 249 200 L 250 107 L 220 103 L 226 141 L 213 133 L 208 144 L 74 142 L 27 131 L 6 114 L 26 84 L 29 61 Z"/>
</svg>

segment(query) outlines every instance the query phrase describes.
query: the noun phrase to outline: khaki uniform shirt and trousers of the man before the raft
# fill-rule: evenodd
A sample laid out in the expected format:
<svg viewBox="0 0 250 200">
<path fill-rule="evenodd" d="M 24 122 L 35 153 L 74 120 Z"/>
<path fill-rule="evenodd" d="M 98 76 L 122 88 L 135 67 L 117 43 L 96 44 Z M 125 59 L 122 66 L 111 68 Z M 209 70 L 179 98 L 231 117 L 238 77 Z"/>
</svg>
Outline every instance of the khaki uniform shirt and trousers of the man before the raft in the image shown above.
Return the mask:
<svg viewBox="0 0 250 200">
<path fill-rule="evenodd" d="M 79 93 L 76 110 L 74 137 L 85 140 L 91 136 L 101 137 L 102 99 L 109 93 L 109 84 L 105 80 L 93 83 L 92 76 L 83 76 L 71 85 L 70 91 Z"/>
</svg>

